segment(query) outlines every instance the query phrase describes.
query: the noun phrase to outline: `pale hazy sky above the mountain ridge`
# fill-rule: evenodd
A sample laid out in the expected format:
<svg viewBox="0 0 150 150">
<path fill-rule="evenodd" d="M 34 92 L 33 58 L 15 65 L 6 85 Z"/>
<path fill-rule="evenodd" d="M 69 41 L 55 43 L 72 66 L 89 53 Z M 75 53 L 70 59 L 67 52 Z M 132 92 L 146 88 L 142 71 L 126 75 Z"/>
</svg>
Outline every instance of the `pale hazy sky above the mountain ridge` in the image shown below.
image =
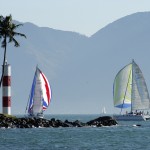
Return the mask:
<svg viewBox="0 0 150 150">
<path fill-rule="evenodd" d="M 150 11 L 150 0 L 0 0 L 0 15 L 38 26 L 92 35 L 129 14 Z"/>
</svg>

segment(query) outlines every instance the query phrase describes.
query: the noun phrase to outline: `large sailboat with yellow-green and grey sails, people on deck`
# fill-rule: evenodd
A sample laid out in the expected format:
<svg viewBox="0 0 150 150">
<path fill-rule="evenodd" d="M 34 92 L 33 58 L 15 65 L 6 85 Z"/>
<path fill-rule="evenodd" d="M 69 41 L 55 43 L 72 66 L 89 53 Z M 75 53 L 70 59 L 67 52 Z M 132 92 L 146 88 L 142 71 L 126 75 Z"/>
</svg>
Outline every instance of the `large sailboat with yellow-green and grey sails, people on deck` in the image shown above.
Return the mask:
<svg viewBox="0 0 150 150">
<path fill-rule="evenodd" d="M 149 120 L 150 98 L 142 71 L 134 60 L 122 68 L 115 77 L 113 85 L 114 106 L 120 108 L 118 121 Z M 123 109 L 129 108 L 129 113 Z M 147 112 L 145 112 L 147 111 Z"/>
</svg>

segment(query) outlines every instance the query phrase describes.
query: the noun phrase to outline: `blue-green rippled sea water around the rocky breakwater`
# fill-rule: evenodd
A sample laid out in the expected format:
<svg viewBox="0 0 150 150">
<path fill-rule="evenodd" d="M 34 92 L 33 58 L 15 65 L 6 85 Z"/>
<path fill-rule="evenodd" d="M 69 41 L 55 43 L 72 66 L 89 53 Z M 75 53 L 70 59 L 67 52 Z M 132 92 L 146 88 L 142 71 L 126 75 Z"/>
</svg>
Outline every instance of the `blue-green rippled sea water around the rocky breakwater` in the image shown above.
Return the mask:
<svg viewBox="0 0 150 150">
<path fill-rule="evenodd" d="M 82 122 L 97 117 L 45 115 Z M 0 150 L 150 150 L 150 121 L 122 121 L 110 127 L 1 128 Z"/>
</svg>

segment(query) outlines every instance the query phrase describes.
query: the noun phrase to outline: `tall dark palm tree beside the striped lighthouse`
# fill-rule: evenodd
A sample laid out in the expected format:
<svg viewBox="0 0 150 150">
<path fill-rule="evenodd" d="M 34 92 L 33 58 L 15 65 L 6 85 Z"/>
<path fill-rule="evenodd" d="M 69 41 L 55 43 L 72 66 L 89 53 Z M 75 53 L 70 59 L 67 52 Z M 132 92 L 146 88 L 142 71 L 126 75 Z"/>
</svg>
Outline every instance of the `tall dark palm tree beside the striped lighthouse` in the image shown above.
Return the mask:
<svg viewBox="0 0 150 150">
<path fill-rule="evenodd" d="M 17 40 L 14 38 L 14 36 L 23 36 L 26 38 L 24 34 L 15 32 L 15 30 L 21 26 L 22 24 L 14 24 L 12 21 L 12 16 L 0 16 L 0 40 L 2 39 L 1 42 L 1 47 L 4 48 L 4 59 L 3 59 L 3 68 L 2 68 L 2 76 L 0 80 L 0 87 L 2 84 L 3 76 L 4 76 L 4 67 L 5 67 L 5 61 L 6 61 L 6 48 L 7 48 L 7 43 L 14 43 L 15 47 L 19 47 L 19 43 Z"/>
</svg>

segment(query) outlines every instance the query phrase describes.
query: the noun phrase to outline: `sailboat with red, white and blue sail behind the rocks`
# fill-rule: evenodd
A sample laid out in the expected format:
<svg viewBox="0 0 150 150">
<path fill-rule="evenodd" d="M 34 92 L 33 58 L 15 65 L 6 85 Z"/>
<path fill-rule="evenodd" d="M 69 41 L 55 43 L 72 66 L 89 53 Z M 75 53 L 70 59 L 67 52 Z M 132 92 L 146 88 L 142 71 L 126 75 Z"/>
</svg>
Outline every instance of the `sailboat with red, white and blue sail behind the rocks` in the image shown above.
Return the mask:
<svg viewBox="0 0 150 150">
<path fill-rule="evenodd" d="M 29 117 L 43 118 L 51 101 L 50 84 L 44 73 L 36 67 L 26 110 Z"/>
</svg>

